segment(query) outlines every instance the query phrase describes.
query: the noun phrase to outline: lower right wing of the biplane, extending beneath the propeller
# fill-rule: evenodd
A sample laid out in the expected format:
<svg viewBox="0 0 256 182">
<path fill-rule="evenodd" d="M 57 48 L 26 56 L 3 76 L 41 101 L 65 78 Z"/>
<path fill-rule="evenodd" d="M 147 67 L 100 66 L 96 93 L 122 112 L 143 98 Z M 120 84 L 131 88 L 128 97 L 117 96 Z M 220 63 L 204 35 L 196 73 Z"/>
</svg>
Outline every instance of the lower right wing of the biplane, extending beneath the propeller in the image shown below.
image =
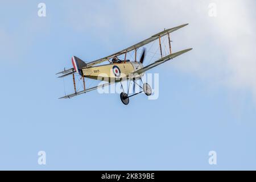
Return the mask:
<svg viewBox="0 0 256 182">
<path fill-rule="evenodd" d="M 183 53 L 191 51 L 191 50 L 192 50 L 192 48 L 189 48 L 189 49 L 185 49 L 183 51 L 172 53 L 171 55 L 163 57 L 163 58 L 155 61 L 154 63 L 147 65 L 146 67 L 138 69 L 137 71 L 133 72 L 133 75 L 137 75 L 137 74 L 140 75 L 141 73 L 146 72 L 148 69 L 154 68 L 154 67 L 158 66 L 159 64 L 162 64 L 162 63 L 164 63 L 164 62 L 166 62 L 166 61 L 168 61 L 170 59 L 173 59 L 174 57 L 182 55 Z"/>
</svg>

